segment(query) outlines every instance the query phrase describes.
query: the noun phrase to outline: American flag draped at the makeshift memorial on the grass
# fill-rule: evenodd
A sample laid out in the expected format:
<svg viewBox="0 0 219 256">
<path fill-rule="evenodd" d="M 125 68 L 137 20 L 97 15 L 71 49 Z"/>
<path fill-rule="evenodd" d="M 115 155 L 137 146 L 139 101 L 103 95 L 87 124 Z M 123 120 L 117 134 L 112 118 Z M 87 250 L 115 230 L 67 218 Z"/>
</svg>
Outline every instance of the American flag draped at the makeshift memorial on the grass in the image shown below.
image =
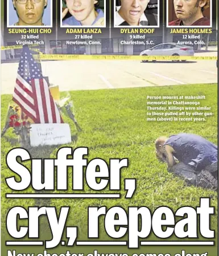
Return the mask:
<svg viewBox="0 0 219 256">
<path fill-rule="evenodd" d="M 13 100 L 34 123 L 63 123 L 40 63 L 35 61 L 27 46 L 23 47 L 20 57 Z"/>
</svg>

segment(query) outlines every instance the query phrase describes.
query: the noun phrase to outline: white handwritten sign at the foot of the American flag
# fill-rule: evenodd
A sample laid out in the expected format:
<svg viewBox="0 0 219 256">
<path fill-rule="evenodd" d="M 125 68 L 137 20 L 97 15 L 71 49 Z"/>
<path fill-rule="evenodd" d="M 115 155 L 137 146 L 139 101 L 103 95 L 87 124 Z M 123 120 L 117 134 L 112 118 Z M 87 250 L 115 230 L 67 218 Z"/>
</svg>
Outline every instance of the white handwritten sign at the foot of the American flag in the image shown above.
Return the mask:
<svg viewBox="0 0 219 256">
<path fill-rule="evenodd" d="M 71 141 L 69 124 L 31 124 L 30 144 L 32 147 L 66 144 Z"/>
</svg>

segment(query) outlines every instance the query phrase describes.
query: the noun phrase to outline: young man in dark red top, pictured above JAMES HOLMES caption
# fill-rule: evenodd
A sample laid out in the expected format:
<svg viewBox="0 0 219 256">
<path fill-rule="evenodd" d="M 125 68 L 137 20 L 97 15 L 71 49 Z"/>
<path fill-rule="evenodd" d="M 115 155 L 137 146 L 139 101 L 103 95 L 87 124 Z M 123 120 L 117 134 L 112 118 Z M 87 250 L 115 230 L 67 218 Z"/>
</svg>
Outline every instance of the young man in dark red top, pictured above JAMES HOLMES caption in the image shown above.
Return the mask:
<svg viewBox="0 0 219 256">
<path fill-rule="evenodd" d="M 210 0 L 173 0 L 176 21 L 169 26 L 210 26 L 210 19 L 203 11 L 210 6 Z"/>
</svg>

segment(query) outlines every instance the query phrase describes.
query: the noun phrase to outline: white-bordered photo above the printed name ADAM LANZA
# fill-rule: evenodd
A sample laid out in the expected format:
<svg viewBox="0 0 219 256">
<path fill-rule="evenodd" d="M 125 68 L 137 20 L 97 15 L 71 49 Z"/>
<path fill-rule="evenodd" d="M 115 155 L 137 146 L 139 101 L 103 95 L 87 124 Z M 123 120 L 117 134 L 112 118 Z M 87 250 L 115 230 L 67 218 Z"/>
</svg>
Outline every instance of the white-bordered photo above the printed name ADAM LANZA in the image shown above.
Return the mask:
<svg viewBox="0 0 219 256">
<path fill-rule="evenodd" d="M 106 0 L 61 0 L 61 27 L 106 27 Z"/>
</svg>

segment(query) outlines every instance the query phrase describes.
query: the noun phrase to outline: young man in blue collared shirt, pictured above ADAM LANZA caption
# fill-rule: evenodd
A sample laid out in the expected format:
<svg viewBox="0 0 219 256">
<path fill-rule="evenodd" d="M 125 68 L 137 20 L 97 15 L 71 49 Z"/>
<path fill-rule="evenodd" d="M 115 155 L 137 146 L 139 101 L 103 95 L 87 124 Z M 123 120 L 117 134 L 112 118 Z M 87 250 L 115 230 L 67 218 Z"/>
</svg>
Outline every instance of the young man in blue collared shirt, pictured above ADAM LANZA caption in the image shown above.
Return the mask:
<svg viewBox="0 0 219 256">
<path fill-rule="evenodd" d="M 72 16 L 63 20 L 63 26 L 104 26 L 104 12 L 98 9 L 97 0 L 66 0 L 66 5 L 62 17 L 68 11 Z"/>
</svg>

